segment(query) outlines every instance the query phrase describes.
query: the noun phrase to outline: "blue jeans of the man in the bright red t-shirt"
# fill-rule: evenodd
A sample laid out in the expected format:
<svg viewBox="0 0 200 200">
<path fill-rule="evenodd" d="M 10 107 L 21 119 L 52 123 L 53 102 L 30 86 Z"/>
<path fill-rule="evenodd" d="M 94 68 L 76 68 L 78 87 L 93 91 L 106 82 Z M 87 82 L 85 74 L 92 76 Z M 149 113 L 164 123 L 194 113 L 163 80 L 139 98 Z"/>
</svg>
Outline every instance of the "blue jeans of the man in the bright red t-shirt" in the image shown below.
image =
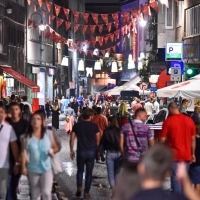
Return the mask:
<svg viewBox="0 0 200 200">
<path fill-rule="evenodd" d="M 177 181 L 176 178 L 176 171 L 179 162 L 174 162 L 172 166 L 172 174 L 171 174 L 171 187 L 173 192 L 183 193 L 183 188 L 181 187 L 180 183 Z M 185 162 L 187 171 L 189 171 L 190 163 Z"/>
</svg>

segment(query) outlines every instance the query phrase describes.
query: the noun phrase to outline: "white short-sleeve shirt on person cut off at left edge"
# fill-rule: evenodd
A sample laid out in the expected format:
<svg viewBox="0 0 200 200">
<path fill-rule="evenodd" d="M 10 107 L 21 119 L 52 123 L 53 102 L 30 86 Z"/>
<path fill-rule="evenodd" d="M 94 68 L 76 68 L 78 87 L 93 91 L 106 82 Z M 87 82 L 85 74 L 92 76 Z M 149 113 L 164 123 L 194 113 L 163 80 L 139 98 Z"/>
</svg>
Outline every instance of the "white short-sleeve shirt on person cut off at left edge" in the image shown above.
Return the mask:
<svg viewBox="0 0 200 200">
<path fill-rule="evenodd" d="M 11 142 L 17 140 L 17 137 L 11 125 L 6 123 L 2 123 L 2 125 L 3 126 L 0 131 L 0 168 L 9 169 L 9 146 Z"/>
</svg>

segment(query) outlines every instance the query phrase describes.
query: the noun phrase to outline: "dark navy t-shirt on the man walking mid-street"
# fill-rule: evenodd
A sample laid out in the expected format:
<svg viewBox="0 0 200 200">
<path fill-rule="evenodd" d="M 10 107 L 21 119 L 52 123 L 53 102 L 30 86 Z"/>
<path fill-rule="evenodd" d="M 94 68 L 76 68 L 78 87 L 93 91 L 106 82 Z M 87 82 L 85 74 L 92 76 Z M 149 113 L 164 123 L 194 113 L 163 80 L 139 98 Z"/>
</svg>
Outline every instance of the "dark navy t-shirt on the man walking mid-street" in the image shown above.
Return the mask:
<svg viewBox="0 0 200 200">
<path fill-rule="evenodd" d="M 96 134 L 99 128 L 95 123 L 80 121 L 74 125 L 72 132 L 78 139 L 77 151 L 96 151 Z"/>
</svg>

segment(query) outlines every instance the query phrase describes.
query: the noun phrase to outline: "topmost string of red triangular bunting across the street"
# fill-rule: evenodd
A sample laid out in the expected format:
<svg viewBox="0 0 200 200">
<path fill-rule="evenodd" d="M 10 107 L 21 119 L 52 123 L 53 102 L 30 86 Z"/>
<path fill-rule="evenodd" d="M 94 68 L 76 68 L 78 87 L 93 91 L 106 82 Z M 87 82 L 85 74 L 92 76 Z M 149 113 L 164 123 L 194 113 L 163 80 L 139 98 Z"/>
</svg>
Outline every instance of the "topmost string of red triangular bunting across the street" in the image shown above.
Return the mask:
<svg viewBox="0 0 200 200">
<path fill-rule="evenodd" d="M 55 15 L 51 15 L 49 21 L 53 20 L 55 17 L 58 17 L 60 12 L 61 12 L 61 9 L 63 10 L 64 14 L 65 14 L 65 17 L 66 17 L 66 20 L 67 20 L 67 23 L 68 24 L 72 24 L 72 22 L 69 22 L 68 19 L 69 19 L 69 14 L 70 14 L 70 11 L 72 12 L 73 16 L 74 16 L 74 21 L 76 24 L 78 24 L 78 21 L 79 21 L 79 18 L 80 16 L 83 17 L 84 19 L 84 22 L 86 25 L 88 25 L 88 18 L 89 16 L 91 15 L 93 21 L 94 21 L 94 24 L 96 26 L 100 26 L 100 28 L 102 27 L 102 24 L 99 24 L 99 17 L 101 17 L 103 19 L 103 22 L 106 24 L 106 26 L 108 27 L 108 30 L 109 30 L 109 27 L 110 26 L 115 26 L 116 29 L 119 25 L 119 14 L 121 14 L 122 16 L 122 22 L 123 23 L 126 23 L 130 20 L 130 17 L 131 15 L 135 15 L 136 13 L 137 14 L 141 14 L 141 15 L 146 15 L 146 16 L 150 16 L 151 15 L 151 9 L 154 9 L 156 12 L 158 12 L 158 0 L 149 0 L 149 3 L 146 3 L 144 5 L 141 6 L 140 9 L 133 9 L 131 11 L 123 11 L 123 12 L 116 12 L 116 13 L 109 13 L 109 14 L 96 14 L 96 13 L 85 13 L 85 12 L 78 12 L 78 11 L 75 11 L 75 10 L 70 10 L 68 8 L 64 8 L 64 7 L 61 7 L 61 6 L 58 6 L 56 4 L 53 4 L 52 2 L 50 2 L 49 0 L 38 0 L 38 4 L 33 1 L 33 0 L 27 0 L 28 1 L 28 5 L 31 4 L 31 2 L 34 3 L 34 11 L 36 12 L 38 8 L 41 8 L 43 6 L 43 4 L 46 5 L 46 8 L 47 10 L 41 8 L 42 10 L 42 14 L 43 16 L 45 17 L 47 12 L 51 12 L 51 10 L 55 9 Z M 175 0 L 175 1 L 178 1 L 178 0 Z M 162 0 L 162 3 L 164 3 L 167 7 L 169 6 L 168 4 L 168 0 Z M 109 15 L 112 16 L 112 19 L 113 19 L 113 22 L 109 22 Z M 61 21 L 65 21 L 64 19 L 60 19 L 58 18 L 58 25 L 61 25 Z"/>
</svg>

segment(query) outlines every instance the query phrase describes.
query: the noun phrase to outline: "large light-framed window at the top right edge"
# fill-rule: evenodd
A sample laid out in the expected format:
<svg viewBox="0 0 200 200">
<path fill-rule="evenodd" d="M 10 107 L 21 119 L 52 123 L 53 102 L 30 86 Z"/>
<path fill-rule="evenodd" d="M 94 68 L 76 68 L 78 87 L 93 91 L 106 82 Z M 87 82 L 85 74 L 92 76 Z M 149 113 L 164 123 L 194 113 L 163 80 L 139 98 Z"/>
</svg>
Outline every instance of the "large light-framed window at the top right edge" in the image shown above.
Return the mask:
<svg viewBox="0 0 200 200">
<path fill-rule="evenodd" d="M 186 37 L 200 34 L 200 4 L 186 9 L 185 12 L 185 33 Z"/>
</svg>

